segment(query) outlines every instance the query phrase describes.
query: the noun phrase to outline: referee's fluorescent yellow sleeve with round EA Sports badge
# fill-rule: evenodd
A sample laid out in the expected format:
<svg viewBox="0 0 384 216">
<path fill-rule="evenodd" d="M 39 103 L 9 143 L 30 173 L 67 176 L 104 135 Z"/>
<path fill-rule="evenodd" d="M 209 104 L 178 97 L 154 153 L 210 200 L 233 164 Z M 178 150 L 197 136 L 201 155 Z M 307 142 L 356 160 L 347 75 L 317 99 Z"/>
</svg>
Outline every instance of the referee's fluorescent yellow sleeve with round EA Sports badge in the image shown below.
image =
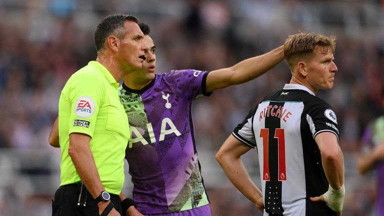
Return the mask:
<svg viewBox="0 0 384 216">
<path fill-rule="evenodd" d="M 92 137 L 105 91 L 103 83 L 96 77 L 82 77 L 82 75 L 73 77 L 71 82 L 68 93 L 70 104 L 68 134 L 79 132 Z"/>
</svg>

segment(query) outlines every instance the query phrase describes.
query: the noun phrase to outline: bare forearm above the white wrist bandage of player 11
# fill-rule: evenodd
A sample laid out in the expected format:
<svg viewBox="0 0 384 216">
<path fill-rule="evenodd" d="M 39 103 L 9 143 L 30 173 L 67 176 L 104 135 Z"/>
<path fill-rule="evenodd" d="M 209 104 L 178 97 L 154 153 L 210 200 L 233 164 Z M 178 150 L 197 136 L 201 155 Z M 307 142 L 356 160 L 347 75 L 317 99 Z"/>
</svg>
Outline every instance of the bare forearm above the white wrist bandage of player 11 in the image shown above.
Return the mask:
<svg viewBox="0 0 384 216">
<path fill-rule="evenodd" d="M 322 166 L 329 185 L 337 190 L 344 184 L 344 164 L 341 149 L 333 155 L 321 155 Z"/>
</svg>

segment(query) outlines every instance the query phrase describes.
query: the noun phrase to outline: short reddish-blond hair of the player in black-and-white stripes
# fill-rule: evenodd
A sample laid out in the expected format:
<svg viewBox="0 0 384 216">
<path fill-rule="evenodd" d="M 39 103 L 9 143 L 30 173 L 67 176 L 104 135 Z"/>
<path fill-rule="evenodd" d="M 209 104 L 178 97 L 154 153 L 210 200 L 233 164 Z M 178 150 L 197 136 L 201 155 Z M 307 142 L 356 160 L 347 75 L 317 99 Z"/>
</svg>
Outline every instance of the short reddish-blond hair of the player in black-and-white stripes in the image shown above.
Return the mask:
<svg viewBox="0 0 384 216">
<path fill-rule="evenodd" d="M 291 71 L 301 60 L 310 60 L 315 51 L 321 54 L 334 53 L 335 36 L 315 33 L 296 33 L 289 35 L 284 42 L 284 57 Z"/>
</svg>

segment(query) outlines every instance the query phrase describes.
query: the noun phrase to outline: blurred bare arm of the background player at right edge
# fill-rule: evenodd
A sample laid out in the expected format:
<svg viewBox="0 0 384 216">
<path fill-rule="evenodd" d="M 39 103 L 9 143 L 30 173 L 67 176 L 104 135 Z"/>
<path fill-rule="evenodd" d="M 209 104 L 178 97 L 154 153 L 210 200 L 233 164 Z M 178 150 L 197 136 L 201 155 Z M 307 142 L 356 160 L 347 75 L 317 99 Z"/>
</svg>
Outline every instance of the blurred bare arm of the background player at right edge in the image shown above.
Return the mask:
<svg viewBox="0 0 384 216">
<path fill-rule="evenodd" d="M 359 155 L 357 158 L 357 167 L 360 174 L 365 174 L 372 169 L 374 163 L 378 160 L 384 160 L 384 142 L 376 145 L 372 152 L 367 155 Z"/>
</svg>

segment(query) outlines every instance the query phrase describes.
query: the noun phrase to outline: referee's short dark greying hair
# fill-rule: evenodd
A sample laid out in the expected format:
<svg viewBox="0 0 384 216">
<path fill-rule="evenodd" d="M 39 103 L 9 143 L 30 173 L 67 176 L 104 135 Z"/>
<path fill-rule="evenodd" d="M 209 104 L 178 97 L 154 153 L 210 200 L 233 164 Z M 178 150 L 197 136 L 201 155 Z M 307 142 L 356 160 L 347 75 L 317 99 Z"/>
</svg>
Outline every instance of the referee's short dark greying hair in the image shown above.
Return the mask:
<svg viewBox="0 0 384 216">
<path fill-rule="evenodd" d="M 119 39 L 124 38 L 126 33 L 124 29 L 125 21 L 138 23 L 138 18 L 132 15 L 114 14 L 105 16 L 100 23 L 98 23 L 94 30 L 94 45 L 96 46 L 97 52 L 105 47 L 108 36 L 113 35 Z"/>
</svg>

